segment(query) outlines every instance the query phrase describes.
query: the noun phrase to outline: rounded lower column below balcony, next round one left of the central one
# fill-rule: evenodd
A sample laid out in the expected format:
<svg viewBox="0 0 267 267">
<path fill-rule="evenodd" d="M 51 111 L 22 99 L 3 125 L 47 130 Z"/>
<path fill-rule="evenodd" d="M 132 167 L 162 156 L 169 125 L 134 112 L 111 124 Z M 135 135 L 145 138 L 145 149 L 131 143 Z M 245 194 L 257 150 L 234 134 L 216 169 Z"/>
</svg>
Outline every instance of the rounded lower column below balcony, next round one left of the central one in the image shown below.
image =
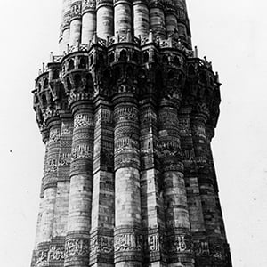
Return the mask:
<svg viewBox="0 0 267 267">
<path fill-rule="evenodd" d="M 74 94 L 75 95 L 75 94 Z M 69 217 L 64 266 L 87 267 L 93 190 L 93 103 L 74 98 Z"/>
</svg>

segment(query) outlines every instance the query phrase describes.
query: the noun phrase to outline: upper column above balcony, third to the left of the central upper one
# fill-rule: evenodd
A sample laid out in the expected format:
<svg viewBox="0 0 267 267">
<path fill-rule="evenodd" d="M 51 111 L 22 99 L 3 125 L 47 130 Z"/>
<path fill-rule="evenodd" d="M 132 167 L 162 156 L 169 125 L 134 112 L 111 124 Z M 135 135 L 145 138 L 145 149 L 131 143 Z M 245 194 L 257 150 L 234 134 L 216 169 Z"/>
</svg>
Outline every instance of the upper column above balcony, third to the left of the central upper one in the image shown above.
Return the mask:
<svg viewBox="0 0 267 267">
<path fill-rule="evenodd" d="M 81 42 L 82 32 L 82 1 L 72 0 L 70 4 L 69 45 Z"/>
</svg>

